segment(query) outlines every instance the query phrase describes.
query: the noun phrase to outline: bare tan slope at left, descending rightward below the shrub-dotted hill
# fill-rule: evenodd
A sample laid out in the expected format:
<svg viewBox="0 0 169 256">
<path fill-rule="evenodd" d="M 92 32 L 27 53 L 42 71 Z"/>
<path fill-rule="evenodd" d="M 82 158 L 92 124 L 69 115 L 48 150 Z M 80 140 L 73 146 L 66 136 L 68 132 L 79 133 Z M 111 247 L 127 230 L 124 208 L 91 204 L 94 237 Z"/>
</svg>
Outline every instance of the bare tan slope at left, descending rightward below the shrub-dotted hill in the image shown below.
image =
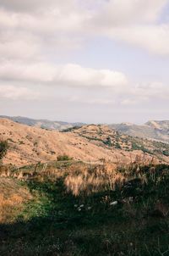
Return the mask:
<svg viewBox="0 0 169 256">
<path fill-rule="evenodd" d="M 25 165 L 52 161 L 63 154 L 88 162 L 99 159 L 116 162 L 117 158 L 128 162 L 130 159 L 127 152 L 110 150 L 106 145 L 98 147 L 74 132 L 46 131 L 5 119 L 0 120 L 0 139 L 8 140 L 10 146 L 4 159 L 5 164 Z"/>
</svg>

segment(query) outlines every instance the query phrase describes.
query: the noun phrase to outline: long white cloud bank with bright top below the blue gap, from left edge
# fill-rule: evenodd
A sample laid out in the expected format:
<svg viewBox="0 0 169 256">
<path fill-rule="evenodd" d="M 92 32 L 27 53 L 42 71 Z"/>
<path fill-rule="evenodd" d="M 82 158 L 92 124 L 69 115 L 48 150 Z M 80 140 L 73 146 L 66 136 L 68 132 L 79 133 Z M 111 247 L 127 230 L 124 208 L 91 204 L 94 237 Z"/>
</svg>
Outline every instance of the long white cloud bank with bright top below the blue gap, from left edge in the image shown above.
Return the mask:
<svg viewBox="0 0 169 256">
<path fill-rule="evenodd" d="M 115 90 L 128 84 L 126 75 L 114 70 L 95 70 L 79 64 L 14 64 L 12 61 L 0 65 L 0 79 L 55 86 L 108 86 Z"/>
</svg>

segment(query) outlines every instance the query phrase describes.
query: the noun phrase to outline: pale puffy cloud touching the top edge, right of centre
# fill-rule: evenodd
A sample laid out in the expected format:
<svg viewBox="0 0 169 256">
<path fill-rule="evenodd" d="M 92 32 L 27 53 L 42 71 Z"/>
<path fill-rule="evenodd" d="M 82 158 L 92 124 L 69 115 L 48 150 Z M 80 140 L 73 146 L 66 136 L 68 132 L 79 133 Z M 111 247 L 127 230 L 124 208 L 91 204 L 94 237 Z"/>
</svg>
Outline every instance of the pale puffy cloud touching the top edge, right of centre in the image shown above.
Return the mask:
<svg viewBox="0 0 169 256">
<path fill-rule="evenodd" d="M 167 0 L 109 0 L 105 1 L 95 21 L 102 26 L 115 27 L 155 22 Z"/>
</svg>

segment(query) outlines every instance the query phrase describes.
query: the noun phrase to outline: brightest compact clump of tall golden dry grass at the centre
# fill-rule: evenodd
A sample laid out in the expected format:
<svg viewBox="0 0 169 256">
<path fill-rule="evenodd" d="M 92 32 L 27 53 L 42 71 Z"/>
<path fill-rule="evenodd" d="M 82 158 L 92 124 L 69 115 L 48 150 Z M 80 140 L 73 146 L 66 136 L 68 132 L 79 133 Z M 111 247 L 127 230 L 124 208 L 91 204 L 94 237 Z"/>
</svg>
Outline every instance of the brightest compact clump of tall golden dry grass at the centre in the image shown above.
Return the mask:
<svg viewBox="0 0 169 256">
<path fill-rule="evenodd" d="M 70 172 L 64 181 L 68 192 L 75 196 L 85 192 L 99 192 L 105 189 L 114 190 L 118 184 L 123 184 L 124 176 L 117 171 L 115 164 L 97 166 L 81 166 L 78 170 Z"/>
</svg>

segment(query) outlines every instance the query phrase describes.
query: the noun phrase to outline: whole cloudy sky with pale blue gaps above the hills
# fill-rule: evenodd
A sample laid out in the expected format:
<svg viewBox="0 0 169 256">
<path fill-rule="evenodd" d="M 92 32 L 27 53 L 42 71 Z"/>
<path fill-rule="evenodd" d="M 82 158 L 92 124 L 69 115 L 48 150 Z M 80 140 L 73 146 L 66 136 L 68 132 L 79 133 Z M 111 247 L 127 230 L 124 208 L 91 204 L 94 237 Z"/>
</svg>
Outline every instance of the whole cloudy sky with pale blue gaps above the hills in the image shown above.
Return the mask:
<svg viewBox="0 0 169 256">
<path fill-rule="evenodd" d="M 1 0 L 0 114 L 169 120 L 169 1 Z"/>
</svg>

